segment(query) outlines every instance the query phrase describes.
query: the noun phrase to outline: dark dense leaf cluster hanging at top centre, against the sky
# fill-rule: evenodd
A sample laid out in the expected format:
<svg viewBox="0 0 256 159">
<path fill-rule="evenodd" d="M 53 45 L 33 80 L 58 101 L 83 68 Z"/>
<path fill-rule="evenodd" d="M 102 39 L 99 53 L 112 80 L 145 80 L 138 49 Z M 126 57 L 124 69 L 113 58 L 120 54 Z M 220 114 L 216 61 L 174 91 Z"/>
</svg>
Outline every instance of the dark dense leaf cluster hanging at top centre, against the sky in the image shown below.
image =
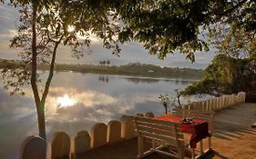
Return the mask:
<svg viewBox="0 0 256 159">
<path fill-rule="evenodd" d="M 149 54 L 164 59 L 175 50 L 194 61 L 193 53 L 208 50 L 198 36 L 199 26 L 209 23 L 210 2 L 178 0 L 120 1 L 118 13 L 126 25 L 119 36 L 142 43 Z"/>
</svg>

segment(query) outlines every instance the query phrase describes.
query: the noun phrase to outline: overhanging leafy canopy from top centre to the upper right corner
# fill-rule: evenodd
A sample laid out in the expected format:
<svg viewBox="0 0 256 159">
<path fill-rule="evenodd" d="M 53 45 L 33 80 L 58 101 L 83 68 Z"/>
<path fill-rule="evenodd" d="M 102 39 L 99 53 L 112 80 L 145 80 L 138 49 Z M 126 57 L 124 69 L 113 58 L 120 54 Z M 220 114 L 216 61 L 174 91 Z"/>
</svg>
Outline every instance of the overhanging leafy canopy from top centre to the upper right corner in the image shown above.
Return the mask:
<svg viewBox="0 0 256 159">
<path fill-rule="evenodd" d="M 122 39 L 137 40 L 149 53 L 163 59 L 167 54 L 179 51 L 192 62 L 194 53 L 208 51 L 209 44 L 220 48 L 226 38 L 236 40 L 236 34 L 247 38 L 251 52 L 255 46 L 254 0 L 122 0 L 118 1 L 118 14 L 125 23 Z M 225 29 L 223 29 L 223 26 Z M 230 32 L 229 35 L 225 31 Z M 210 43 L 205 35 L 208 33 Z M 218 39 L 217 36 L 221 35 Z M 245 35 L 245 36 L 244 36 Z M 244 41 L 241 38 L 240 43 Z M 211 43 L 214 40 L 214 43 Z M 217 40 L 217 43 L 215 43 Z M 249 41 L 249 42 L 248 42 Z M 229 47 L 231 48 L 231 47 Z M 222 49 L 224 51 L 224 49 Z M 220 50 L 221 52 L 221 50 Z"/>
</svg>

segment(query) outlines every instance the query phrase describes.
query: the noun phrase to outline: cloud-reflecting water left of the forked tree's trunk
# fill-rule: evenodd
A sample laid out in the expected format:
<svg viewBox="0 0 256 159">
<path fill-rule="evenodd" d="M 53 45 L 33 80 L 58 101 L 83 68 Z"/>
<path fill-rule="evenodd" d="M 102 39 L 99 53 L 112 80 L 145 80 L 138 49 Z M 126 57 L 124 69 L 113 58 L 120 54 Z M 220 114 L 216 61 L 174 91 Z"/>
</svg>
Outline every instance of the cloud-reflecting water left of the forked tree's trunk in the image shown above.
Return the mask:
<svg viewBox="0 0 256 159">
<path fill-rule="evenodd" d="M 22 141 L 37 134 L 36 111 L 33 100 L 26 96 L 10 96 L 0 87 L 0 158 L 19 157 Z"/>
</svg>

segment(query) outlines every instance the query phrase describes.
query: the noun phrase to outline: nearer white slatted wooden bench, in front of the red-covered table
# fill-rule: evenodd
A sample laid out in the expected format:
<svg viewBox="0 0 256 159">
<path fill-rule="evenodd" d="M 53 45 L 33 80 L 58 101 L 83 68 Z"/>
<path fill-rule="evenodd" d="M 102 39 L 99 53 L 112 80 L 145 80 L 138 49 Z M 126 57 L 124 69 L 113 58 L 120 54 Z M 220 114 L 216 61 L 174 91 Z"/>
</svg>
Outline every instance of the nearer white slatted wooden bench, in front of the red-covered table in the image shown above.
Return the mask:
<svg viewBox="0 0 256 159">
<path fill-rule="evenodd" d="M 154 152 L 184 158 L 185 144 L 180 124 L 141 116 L 135 116 L 134 121 L 138 131 L 138 158 Z M 152 146 L 146 152 L 145 139 L 152 140 Z M 162 150 L 169 145 L 176 151 L 169 153 Z"/>
</svg>

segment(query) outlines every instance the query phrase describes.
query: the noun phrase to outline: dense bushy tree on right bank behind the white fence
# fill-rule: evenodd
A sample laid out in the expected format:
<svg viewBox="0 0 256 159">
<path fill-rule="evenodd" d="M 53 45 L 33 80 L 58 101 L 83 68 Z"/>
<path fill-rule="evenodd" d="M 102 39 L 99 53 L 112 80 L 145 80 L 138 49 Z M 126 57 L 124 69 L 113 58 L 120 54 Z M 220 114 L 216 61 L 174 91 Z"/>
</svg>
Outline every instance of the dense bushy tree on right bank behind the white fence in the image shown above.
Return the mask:
<svg viewBox="0 0 256 159">
<path fill-rule="evenodd" d="M 254 60 L 217 55 L 205 69 L 200 82 L 189 85 L 182 94 L 233 94 L 256 89 Z"/>
</svg>

